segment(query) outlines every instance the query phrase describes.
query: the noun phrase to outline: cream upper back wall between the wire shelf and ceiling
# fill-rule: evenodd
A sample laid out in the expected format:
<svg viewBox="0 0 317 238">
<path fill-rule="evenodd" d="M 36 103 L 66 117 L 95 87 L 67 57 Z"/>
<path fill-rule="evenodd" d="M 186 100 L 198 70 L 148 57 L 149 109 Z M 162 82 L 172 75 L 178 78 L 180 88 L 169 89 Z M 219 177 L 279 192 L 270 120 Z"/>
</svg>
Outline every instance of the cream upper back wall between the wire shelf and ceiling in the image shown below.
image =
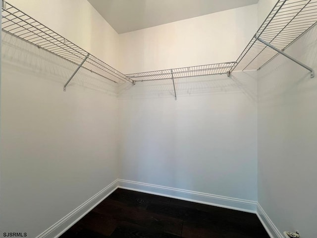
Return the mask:
<svg viewBox="0 0 317 238">
<path fill-rule="evenodd" d="M 120 69 L 134 73 L 234 61 L 256 30 L 257 4 L 120 34 Z"/>
</svg>

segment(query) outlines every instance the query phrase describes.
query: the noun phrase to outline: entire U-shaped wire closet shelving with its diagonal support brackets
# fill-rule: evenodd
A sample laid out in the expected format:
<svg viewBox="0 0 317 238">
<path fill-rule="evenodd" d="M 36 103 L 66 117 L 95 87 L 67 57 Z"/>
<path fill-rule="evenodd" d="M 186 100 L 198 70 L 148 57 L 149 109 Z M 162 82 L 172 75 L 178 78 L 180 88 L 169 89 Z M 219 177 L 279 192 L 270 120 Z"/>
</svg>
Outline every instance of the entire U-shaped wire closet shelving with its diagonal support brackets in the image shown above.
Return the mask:
<svg viewBox="0 0 317 238">
<path fill-rule="evenodd" d="M 314 77 L 311 67 L 287 55 L 284 50 L 316 24 L 317 0 L 277 0 L 238 60 L 131 74 L 119 72 L 5 1 L 2 1 L 1 27 L 10 35 L 77 64 L 78 68 L 65 83 L 64 90 L 82 66 L 116 83 L 171 79 L 176 99 L 175 78 L 225 73 L 229 76 L 233 71 L 260 69 L 278 54 L 305 67 Z"/>
</svg>

